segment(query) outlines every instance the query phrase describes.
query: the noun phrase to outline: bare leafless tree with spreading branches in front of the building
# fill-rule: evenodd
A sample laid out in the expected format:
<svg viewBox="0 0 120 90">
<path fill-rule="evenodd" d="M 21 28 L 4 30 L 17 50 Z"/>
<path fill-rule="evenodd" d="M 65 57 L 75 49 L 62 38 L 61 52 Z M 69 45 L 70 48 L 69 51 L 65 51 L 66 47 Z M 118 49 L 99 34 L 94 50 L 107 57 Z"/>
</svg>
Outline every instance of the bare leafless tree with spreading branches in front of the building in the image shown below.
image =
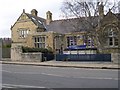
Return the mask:
<svg viewBox="0 0 120 90">
<path fill-rule="evenodd" d="M 111 9 L 116 12 L 116 1 L 110 2 L 106 0 L 100 2 L 100 0 L 66 0 L 63 2 L 61 8 L 65 18 L 77 18 L 76 22 L 72 20 L 69 23 L 74 27 L 76 31 L 85 31 L 85 36 L 90 36 L 94 43 L 99 48 L 99 51 L 103 49 L 103 40 L 98 30 L 100 29 L 100 21 L 104 16 L 104 10 Z M 96 39 L 94 39 L 96 38 Z"/>
</svg>

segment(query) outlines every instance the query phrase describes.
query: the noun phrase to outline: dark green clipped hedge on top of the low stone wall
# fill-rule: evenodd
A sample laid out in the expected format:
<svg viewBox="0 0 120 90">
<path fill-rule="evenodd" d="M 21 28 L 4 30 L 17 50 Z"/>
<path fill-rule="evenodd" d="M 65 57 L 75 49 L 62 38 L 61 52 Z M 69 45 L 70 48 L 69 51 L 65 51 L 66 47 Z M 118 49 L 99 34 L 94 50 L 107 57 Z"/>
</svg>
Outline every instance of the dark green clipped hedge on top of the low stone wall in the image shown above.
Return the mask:
<svg viewBox="0 0 120 90">
<path fill-rule="evenodd" d="M 30 47 L 22 47 L 23 53 L 32 53 L 32 52 L 41 52 L 41 53 L 52 53 L 52 51 L 46 49 L 46 48 L 30 48 Z"/>
</svg>

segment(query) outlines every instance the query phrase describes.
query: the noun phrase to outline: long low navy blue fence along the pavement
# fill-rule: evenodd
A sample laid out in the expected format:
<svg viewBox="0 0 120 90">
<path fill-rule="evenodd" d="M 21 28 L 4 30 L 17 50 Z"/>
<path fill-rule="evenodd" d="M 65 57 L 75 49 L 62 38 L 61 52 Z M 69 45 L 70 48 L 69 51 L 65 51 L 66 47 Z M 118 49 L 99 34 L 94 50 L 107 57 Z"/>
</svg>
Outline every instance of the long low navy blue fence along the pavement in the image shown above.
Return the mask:
<svg viewBox="0 0 120 90">
<path fill-rule="evenodd" d="M 56 61 L 111 61 L 111 54 L 56 54 Z"/>
</svg>

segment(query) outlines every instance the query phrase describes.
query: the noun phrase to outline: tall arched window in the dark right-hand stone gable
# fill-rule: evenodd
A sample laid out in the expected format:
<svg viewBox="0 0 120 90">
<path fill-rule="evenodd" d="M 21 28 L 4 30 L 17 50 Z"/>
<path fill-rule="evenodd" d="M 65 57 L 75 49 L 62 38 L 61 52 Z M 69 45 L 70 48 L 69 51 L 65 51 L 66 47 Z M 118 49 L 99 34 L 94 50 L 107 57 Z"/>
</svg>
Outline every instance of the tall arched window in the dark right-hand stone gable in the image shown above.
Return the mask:
<svg viewBox="0 0 120 90">
<path fill-rule="evenodd" d="M 108 46 L 118 46 L 118 31 L 116 27 L 109 26 L 106 28 L 108 32 Z"/>
</svg>

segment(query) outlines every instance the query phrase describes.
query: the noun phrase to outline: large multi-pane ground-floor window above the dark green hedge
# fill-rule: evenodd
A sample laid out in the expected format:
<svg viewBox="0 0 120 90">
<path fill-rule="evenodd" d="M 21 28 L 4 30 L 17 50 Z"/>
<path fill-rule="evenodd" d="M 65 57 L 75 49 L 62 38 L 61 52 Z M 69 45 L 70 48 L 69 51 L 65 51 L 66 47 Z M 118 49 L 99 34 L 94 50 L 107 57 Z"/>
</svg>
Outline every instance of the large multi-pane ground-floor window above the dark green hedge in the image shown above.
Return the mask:
<svg viewBox="0 0 120 90">
<path fill-rule="evenodd" d="M 45 37 L 38 36 L 34 38 L 35 48 L 45 48 Z"/>
</svg>

